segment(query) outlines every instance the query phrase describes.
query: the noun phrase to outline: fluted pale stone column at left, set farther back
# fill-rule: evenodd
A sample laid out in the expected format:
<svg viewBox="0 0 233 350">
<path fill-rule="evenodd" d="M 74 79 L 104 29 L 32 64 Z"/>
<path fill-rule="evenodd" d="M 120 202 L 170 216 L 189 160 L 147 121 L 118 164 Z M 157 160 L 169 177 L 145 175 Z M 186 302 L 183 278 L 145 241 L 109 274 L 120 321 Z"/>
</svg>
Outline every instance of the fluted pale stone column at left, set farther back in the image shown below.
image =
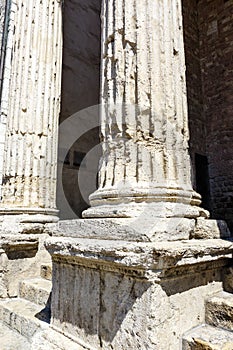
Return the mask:
<svg viewBox="0 0 233 350">
<path fill-rule="evenodd" d="M 57 220 L 61 90 L 60 0 L 15 0 L 1 214 Z"/>
</svg>

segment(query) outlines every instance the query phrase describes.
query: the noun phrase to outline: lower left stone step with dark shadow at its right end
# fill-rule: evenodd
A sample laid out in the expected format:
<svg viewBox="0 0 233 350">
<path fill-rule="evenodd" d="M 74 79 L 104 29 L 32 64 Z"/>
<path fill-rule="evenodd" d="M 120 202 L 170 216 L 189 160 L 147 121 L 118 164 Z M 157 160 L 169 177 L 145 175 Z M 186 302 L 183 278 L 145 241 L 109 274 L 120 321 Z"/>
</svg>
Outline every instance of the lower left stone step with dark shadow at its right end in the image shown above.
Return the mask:
<svg viewBox="0 0 233 350">
<path fill-rule="evenodd" d="M 0 301 L 0 320 L 11 330 L 31 339 L 38 330 L 49 327 L 50 310 L 20 298 L 5 299 Z"/>
</svg>

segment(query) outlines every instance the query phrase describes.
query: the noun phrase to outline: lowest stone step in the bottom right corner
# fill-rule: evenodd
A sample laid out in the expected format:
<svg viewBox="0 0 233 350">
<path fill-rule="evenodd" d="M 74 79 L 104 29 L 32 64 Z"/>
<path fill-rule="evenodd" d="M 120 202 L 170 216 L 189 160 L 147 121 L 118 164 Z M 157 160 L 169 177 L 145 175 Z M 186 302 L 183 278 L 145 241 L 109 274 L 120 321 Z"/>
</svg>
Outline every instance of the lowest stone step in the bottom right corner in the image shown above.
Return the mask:
<svg viewBox="0 0 233 350">
<path fill-rule="evenodd" d="M 182 350 L 232 350 L 233 333 L 210 325 L 201 325 L 185 333 Z"/>
</svg>

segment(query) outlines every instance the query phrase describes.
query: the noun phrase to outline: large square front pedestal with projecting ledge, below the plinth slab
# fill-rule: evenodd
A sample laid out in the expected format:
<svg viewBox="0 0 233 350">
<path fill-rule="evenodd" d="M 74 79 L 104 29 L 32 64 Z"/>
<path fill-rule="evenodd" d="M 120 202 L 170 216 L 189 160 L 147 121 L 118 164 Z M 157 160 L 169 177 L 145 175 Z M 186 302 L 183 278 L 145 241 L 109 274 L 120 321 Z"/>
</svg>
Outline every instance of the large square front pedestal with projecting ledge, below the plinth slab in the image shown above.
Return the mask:
<svg viewBox="0 0 233 350">
<path fill-rule="evenodd" d="M 232 242 L 52 237 L 52 326 L 87 349 L 181 348 L 221 291 Z"/>
</svg>

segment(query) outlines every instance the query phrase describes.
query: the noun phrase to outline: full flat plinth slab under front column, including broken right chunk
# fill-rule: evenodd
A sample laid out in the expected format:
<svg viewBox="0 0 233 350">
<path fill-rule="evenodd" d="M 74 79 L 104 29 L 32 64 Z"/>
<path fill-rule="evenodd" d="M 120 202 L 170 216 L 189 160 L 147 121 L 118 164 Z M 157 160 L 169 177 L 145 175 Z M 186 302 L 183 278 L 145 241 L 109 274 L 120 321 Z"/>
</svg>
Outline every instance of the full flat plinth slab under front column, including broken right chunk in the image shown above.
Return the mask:
<svg viewBox="0 0 233 350">
<path fill-rule="evenodd" d="M 165 242 L 212 238 L 229 238 L 230 231 L 222 220 L 204 217 L 154 217 L 148 213 L 134 218 L 94 218 L 64 220 L 46 225 L 46 231 L 56 236 L 125 240 L 136 242 Z"/>
</svg>

